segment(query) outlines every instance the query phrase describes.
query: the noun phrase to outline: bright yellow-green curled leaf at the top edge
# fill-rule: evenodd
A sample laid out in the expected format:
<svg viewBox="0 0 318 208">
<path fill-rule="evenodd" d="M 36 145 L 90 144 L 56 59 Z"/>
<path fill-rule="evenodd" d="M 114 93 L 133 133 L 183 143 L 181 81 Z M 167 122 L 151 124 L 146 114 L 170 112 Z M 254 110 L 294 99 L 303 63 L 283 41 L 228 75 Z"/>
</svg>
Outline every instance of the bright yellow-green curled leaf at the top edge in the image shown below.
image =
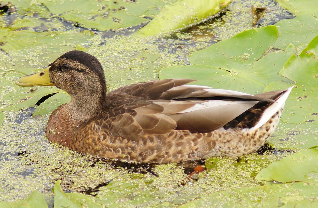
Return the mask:
<svg viewBox="0 0 318 208">
<path fill-rule="evenodd" d="M 146 26 L 138 31 L 139 35 L 165 35 L 190 27 L 212 17 L 224 9 L 232 0 L 179 0 L 166 5 Z"/>
</svg>

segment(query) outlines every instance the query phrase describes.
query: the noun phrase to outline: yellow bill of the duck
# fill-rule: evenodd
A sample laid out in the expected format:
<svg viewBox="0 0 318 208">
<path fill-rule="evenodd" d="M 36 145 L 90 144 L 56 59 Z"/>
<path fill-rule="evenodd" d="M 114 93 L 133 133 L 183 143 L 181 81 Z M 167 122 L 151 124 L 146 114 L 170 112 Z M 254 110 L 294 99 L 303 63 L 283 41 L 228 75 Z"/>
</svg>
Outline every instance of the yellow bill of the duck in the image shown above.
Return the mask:
<svg viewBox="0 0 318 208">
<path fill-rule="evenodd" d="M 24 75 L 16 80 L 16 84 L 21 87 L 55 86 L 54 83 L 51 82 L 49 69 L 50 66 L 38 73 Z"/>
</svg>

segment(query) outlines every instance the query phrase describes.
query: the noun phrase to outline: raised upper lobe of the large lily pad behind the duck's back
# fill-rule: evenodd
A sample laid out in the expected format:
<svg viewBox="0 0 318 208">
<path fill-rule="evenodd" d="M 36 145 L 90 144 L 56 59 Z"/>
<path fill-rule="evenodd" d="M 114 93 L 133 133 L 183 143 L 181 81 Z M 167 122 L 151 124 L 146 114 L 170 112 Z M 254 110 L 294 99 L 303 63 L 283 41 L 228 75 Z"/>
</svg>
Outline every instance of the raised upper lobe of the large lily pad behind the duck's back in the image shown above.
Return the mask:
<svg viewBox="0 0 318 208">
<path fill-rule="evenodd" d="M 244 67 L 257 61 L 277 37 L 277 27 L 271 25 L 243 31 L 206 49 L 193 52 L 189 60 L 192 64 L 204 64 L 229 70 Z"/>
</svg>

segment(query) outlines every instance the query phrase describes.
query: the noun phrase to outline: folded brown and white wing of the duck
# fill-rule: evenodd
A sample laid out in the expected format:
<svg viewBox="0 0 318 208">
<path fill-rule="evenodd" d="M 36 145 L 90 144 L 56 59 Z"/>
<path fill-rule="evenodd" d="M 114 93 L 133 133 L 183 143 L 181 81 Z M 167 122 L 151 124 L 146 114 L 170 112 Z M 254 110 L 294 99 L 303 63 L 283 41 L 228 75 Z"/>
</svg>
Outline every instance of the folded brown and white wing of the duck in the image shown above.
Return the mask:
<svg viewBox="0 0 318 208">
<path fill-rule="evenodd" d="M 275 102 L 231 90 L 186 85 L 191 81 L 153 80 L 118 88 L 107 94 L 105 110 L 94 120 L 111 135 L 137 141 L 175 129 L 213 131 L 259 102 Z"/>
</svg>

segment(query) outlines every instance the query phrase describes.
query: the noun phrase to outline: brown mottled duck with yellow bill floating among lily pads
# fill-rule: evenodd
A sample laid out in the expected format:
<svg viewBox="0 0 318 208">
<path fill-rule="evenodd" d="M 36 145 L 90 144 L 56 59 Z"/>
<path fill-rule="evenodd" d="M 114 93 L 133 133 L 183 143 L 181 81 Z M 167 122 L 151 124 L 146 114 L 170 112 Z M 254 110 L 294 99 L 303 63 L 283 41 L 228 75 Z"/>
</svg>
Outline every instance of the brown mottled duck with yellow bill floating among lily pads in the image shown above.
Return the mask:
<svg viewBox="0 0 318 208">
<path fill-rule="evenodd" d="M 71 96 L 48 119 L 48 140 L 76 151 L 141 163 L 178 163 L 255 152 L 273 134 L 293 87 L 250 95 L 151 80 L 107 93 L 103 67 L 82 51 L 61 55 L 22 87 L 55 86 Z"/>
</svg>

